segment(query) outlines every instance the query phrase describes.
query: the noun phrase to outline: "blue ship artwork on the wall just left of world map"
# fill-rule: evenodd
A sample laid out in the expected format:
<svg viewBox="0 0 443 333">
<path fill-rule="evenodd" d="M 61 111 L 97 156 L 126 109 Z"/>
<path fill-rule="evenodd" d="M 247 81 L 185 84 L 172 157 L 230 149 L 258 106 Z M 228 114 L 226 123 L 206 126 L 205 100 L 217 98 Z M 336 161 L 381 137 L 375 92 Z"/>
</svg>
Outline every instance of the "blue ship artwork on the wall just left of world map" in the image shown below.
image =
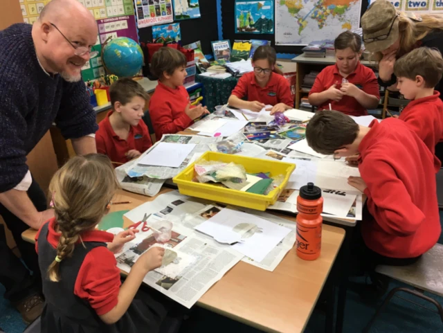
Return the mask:
<svg viewBox="0 0 443 333">
<path fill-rule="evenodd" d="M 235 32 L 273 33 L 273 0 L 235 2 Z"/>
</svg>

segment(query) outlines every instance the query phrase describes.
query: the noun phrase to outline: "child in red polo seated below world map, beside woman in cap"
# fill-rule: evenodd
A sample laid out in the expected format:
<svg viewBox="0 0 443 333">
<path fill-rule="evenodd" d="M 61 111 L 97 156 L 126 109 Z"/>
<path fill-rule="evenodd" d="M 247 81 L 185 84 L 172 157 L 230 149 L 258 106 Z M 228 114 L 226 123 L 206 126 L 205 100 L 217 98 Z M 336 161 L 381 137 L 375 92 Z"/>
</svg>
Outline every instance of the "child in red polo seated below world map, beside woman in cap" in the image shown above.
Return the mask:
<svg viewBox="0 0 443 333">
<path fill-rule="evenodd" d="M 363 66 L 361 37 L 345 31 L 334 41 L 336 64 L 321 71 L 309 91 L 309 103 L 318 110 L 341 111 L 350 116 L 365 116 L 367 109 L 379 105 L 380 93 L 372 69 Z"/>
</svg>

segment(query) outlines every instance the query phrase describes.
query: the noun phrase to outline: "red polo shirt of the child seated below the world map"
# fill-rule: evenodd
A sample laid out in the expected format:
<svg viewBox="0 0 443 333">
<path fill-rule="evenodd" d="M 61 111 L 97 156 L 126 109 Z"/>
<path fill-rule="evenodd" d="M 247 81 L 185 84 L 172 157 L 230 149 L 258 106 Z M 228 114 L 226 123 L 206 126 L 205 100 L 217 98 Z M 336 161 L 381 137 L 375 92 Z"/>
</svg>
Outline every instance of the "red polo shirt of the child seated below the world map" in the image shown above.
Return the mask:
<svg viewBox="0 0 443 333">
<path fill-rule="evenodd" d="M 311 93 L 321 93 L 332 87 L 334 84 L 336 84 L 337 89 L 340 89 L 342 80 L 343 76 L 341 76 L 338 71 L 336 64 L 327 66 L 317 75 L 314 86 L 312 86 L 311 91 L 309 91 L 309 95 L 311 95 Z M 379 83 L 377 82 L 374 71 L 362 65 L 360 62 L 356 66 L 355 71 L 350 73 L 350 75 L 347 75 L 346 80 L 363 90 L 365 93 L 380 98 Z M 368 115 L 368 110 L 351 96 L 343 96 L 338 102 L 327 100 L 322 105 L 318 105 L 318 111 L 329 109 L 329 103 L 333 110 L 341 111 L 343 114 L 348 114 L 350 116 Z"/>
</svg>

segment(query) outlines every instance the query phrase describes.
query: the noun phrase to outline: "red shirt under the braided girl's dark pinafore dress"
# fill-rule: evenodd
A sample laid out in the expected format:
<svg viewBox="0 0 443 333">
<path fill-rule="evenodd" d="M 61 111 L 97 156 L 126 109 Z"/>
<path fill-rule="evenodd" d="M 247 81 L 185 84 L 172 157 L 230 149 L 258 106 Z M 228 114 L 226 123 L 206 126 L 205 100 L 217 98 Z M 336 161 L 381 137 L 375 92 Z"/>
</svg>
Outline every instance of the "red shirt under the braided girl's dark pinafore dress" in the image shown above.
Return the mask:
<svg viewBox="0 0 443 333">
<path fill-rule="evenodd" d="M 57 221 L 55 217 L 48 222 L 48 237 L 46 241 L 57 249 L 60 232 L 57 232 Z M 39 233 L 35 235 L 35 251 L 39 252 Z M 106 231 L 83 231 L 82 242 L 103 242 L 109 243 L 114 240 L 114 235 Z M 82 246 L 78 240 L 78 246 Z M 65 262 L 66 261 L 66 262 Z M 64 264 L 69 264 L 69 258 L 63 260 Z M 59 282 L 62 283 L 62 282 Z M 74 295 L 86 300 L 89 305 L 100 316 L 107 314 L 114 309 L 118 303 L 118 293 L 120 292 L 120 269 L 117 268 L 117 261 L 114 253 L 105 246 L 98 246 L 84 257 L 78 276 L 75 279 Z"/>
</svg>

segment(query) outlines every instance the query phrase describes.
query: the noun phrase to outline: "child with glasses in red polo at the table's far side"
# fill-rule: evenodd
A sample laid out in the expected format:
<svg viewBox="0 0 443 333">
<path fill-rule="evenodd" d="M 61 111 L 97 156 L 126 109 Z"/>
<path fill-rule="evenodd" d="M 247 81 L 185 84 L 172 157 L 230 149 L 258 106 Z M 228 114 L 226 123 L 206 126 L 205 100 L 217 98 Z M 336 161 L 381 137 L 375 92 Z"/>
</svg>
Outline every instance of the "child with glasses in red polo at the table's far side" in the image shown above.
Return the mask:
<svg viewBox="0 0 443 333">
<path fill-rule="evenodd" d="M 238 80 L 228 104 L 255 112 L 260 112 L 266 105 L 272 105 L 273 107 L 266 109 L 271 114 L 293 109 L 289 82 L 276 67 L 276 61 L 277 55 L 271 46 L 257 48 L 252 57 L 254 71 L 244 74 Z"/>
</svg>

